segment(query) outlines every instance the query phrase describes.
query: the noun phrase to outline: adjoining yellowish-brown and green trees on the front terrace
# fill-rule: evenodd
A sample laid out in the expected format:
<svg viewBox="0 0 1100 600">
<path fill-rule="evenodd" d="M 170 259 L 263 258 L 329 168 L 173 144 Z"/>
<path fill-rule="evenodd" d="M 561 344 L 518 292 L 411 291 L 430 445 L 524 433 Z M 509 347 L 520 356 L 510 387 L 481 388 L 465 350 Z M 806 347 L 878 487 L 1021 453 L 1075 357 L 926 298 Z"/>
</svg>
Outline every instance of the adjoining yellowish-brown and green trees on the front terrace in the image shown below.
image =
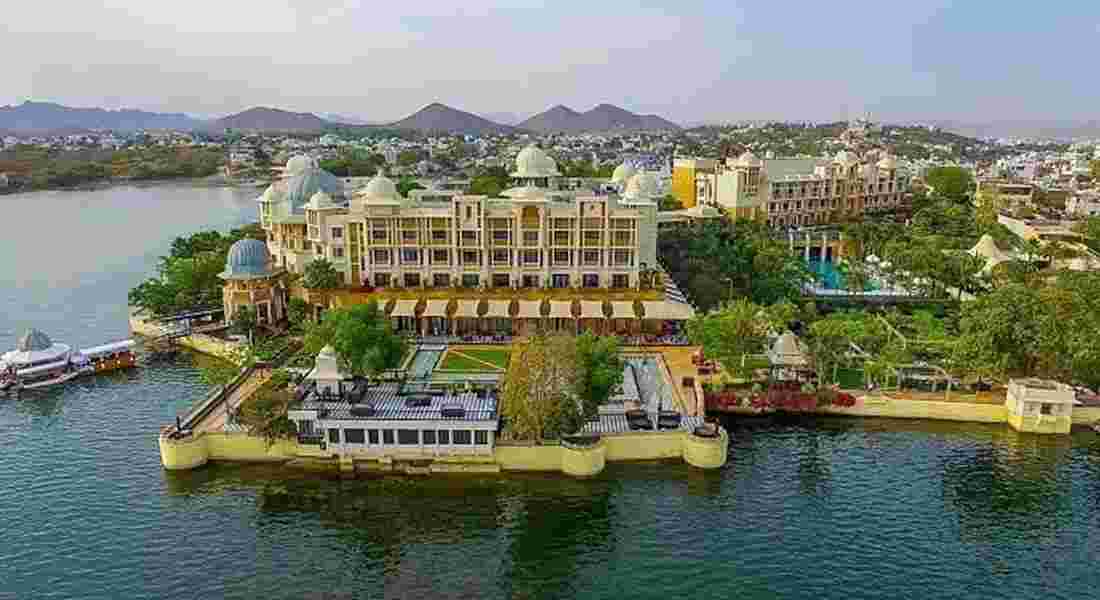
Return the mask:
<svg viewBox="0 0 1100 600">
<path fill-rule="evenodd" d="M 617 338 L 538 334 L 512 350 L 501 399 L 507 435 L 540 440 L 576 433 L 622 385 Z"/>
</svg>

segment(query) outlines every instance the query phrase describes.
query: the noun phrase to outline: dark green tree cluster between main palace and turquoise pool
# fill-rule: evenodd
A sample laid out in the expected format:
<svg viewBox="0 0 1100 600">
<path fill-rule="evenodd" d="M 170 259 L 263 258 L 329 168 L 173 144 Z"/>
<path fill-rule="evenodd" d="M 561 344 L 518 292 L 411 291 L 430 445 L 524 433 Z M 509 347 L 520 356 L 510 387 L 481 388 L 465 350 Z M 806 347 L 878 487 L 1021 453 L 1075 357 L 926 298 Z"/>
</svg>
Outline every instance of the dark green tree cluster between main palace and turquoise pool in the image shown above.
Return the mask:
<svg viewBox="0 0 1100 600">
<path fill-rule="evenodd" d="M 705 219 L 661 231 L 658 254 L 702 312 L 738 297 L 796 302 L 813 274 L 787 242 L 757 221 Z"/>
</svg>

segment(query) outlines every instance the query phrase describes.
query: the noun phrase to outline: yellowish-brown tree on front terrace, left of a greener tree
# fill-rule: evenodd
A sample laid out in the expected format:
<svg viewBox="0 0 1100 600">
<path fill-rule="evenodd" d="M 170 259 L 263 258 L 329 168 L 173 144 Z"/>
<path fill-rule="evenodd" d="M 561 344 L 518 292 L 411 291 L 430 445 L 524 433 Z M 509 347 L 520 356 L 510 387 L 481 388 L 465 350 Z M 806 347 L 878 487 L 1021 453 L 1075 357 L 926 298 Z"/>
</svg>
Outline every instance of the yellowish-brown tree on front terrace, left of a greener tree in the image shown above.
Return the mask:
<svg viewBox="0 0 1100 600">
<path fill-rule="evenodd" d="M 505 435 L 540 440 L 578 432 L 584 424 L 580 377 L 578 345 L 569 336 L 540 332 L 514 346 L 501 395 Z"/>
</svg>

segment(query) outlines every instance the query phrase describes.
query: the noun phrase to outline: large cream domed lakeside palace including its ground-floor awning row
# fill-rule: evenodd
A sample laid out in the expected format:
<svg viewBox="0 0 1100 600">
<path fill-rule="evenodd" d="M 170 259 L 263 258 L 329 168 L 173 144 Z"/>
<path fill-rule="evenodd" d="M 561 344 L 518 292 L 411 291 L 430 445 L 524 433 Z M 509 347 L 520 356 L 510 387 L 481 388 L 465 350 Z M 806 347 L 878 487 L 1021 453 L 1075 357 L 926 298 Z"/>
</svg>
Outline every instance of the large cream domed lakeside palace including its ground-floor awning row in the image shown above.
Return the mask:
<svg viewBox="0 0 1100 600">
<path fill-rule="evenodd" d="M 263 273 L 301 273 L 327 259 L 344 287 L 320 299 L 301 292 L 319 308 L 374 297 L 398 331 L 419 336 L 510 337 L 544 326 L 660 337 L 694 315 L 666 293 L 658 268 L 657 177 L 629 165 L 605 186 L 614 193 L 578 192 L 553 159 L 527 146 L 502 198 L 405 198 L 384 175 L 351 190 L 305 156 L 285 173 L 257 199 L 271 255 Z M 265 280 L 262 287 L 278 288 Z M 244 297 L 255 282 L 234 285 L 233 302 L 265 302 Z M 227 296 L 227 315 L 233 307 Z"/>
</svg>

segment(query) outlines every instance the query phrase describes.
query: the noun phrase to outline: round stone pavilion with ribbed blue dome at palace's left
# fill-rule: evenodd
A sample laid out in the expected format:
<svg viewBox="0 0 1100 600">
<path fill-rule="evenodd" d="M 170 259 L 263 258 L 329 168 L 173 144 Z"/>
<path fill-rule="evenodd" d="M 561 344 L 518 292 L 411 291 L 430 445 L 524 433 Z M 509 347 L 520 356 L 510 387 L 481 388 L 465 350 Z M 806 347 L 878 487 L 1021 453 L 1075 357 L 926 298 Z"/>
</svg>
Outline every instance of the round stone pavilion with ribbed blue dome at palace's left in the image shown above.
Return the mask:
<svg viewBox="0 0 1100 600">
<path fill-rule="evenodd" d="M 256 313 L 261 325 L 275 325 L 286 318 L 286 271 L 273 264 L 267 244 L 261 240 L 243 239 L 229 248 L 226 270 L 219 276 L 222 285 L 222 305 L 226 321 L 242 307 Z"/>
</svg>

